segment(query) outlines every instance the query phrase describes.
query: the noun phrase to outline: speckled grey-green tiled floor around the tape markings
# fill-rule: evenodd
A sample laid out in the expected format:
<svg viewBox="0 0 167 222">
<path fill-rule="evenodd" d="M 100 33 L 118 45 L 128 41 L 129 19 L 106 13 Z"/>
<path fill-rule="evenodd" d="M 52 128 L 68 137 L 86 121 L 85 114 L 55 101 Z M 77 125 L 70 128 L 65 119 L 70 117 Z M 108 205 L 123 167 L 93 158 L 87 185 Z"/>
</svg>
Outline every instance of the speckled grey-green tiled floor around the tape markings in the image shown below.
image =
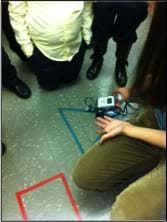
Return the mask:
<svg viewBox="0 0 167 222">
<path fill-rule="evenodd" d="M 129 56 L 129 85 L 149 22 L 150 18 L 138 29 L 139 39 Z M 109 220 L 117 190 L 109 193 L 83 191 L 75 186 L 71 177 L 77 160 L 96 139 L 94 114 L 65 111 L 63 108 L 84 109 L 85 97 L 110 95 L 111 89 L 116 86 L 112 76 L 115 43 L 110 41 L 104 66 L 96 80 L 85 78 L 91 55 L 91 50 L 87 50 L 79 80 L 54 92 L 41 89 L 29 67 L 8 49 L 7 43 L 4 45 L 18 75 L 30 86 L 32 97 L 23 100 L 2 89 L 2 140 L 7 145 L 7 152 L 2 158 L 2 219 L 23 219 L 16 192 L 63 173 L 81 218 Z M 60 108 L 68 123 L 63 119 Z M 28 220 L 77 220 L 77 213 L 64 188 L 58 178 L 22 195 Z"/>
</svg>

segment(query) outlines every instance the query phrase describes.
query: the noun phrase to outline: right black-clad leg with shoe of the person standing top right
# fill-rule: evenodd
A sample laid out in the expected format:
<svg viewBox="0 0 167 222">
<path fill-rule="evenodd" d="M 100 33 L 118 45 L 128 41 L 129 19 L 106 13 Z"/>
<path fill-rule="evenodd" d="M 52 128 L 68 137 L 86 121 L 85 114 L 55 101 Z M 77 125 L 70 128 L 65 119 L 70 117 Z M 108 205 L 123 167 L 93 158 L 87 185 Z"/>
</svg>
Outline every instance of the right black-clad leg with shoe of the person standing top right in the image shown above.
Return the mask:
<svg viewBox="0 0 167 222">
<path fill-rule="evenodd" d="M 117 44 L 115 78 L 119 86 L 127 83 L 126 66 L 132 44 L 137 40 L 136 29 L 147 17 L 147 3 L 115 3 L 117 19 L 114 24 L 113 39 Z"/>
</svg>

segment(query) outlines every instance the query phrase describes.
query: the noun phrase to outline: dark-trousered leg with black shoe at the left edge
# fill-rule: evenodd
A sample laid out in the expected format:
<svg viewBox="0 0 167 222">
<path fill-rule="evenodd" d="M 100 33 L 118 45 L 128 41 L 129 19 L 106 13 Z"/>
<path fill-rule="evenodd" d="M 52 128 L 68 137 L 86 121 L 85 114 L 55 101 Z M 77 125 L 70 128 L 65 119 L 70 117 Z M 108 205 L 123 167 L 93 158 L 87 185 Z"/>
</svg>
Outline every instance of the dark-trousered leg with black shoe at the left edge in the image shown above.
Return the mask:
<svg viewBox="0 0 167 222">
<path fill-rule="evenodd" d="M 29 87 L 17 76 L 16 68 L 2 48 L 2 84 L 17 96 L 27 99 L 31 96 Z"/>
</svg>

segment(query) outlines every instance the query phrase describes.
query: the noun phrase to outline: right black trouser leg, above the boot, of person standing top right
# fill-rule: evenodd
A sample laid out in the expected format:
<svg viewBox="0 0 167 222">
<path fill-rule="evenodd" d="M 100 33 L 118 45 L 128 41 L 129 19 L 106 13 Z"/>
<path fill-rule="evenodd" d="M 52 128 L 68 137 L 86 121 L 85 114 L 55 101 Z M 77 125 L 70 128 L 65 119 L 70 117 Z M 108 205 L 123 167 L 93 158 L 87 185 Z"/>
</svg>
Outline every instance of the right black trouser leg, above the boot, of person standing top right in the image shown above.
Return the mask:
<svg viewBox="0 0 167 222">
<path fill-rule="evenodd" d="M 147 3 L 115 3 L 115 7 L 117 18 L 113 39 L 116 42 L 132 44 L 137 40 L 136 29 L 147 17 Z"/>
</svg>

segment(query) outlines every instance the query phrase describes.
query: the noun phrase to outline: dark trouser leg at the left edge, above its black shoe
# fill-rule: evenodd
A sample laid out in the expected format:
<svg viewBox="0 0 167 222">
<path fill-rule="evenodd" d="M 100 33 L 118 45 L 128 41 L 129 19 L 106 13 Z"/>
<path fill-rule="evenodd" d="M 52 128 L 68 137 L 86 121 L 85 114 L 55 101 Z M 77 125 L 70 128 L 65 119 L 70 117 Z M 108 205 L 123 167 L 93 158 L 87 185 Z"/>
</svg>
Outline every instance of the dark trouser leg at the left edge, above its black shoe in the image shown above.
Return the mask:
<svg viewBox="0 0 167 222">
<path fill-rule="evenodd" d="M 11 64 L 10 59 L 2 48 L 2 84 L 8 87 L 13 79 L 17 78 L 15 67 Z"/>
</svg>

